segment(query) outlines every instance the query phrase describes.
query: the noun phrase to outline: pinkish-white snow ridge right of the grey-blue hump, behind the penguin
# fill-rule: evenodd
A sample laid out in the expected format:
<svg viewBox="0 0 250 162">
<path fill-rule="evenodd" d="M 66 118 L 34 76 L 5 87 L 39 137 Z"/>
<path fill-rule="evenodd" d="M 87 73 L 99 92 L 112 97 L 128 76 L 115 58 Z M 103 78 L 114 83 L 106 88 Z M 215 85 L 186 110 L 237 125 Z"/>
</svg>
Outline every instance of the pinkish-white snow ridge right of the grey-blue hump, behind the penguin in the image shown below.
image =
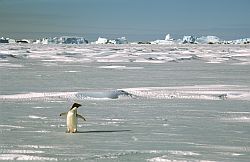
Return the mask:
<svg viewBox="0 0 250 162">
<path fill-rule="evenodd" d="M 141 87 L 123 90 L 134 96 L 154 99 L 250 100 L 249 90 L 232 85 Z"/>
</svg>

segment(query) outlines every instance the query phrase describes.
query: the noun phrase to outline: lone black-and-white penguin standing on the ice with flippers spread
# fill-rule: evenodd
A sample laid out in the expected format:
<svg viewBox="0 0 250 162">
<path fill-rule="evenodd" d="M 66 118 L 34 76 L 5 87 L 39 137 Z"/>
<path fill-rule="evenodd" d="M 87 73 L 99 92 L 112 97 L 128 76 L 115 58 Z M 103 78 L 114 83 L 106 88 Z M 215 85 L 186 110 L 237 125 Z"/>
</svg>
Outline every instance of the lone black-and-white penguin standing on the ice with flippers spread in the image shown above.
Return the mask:
<svg viewBox="0 0 250 162">
<path fill-rule="evenodd" d="M 84 121 L 86 121 L 86 119 L 83 116 L 77 114 L 77 108 L 80 106 L 82 106 L 82 105 L 78 104 L 78 103 L 74 103 L 68 112 L 60 114 L 60 116 L 67 115 L 67 131 L 66 131 L 66 133 L 76 133 L 77 132 L 77 118 L 81 118 Z"/>
</svg>

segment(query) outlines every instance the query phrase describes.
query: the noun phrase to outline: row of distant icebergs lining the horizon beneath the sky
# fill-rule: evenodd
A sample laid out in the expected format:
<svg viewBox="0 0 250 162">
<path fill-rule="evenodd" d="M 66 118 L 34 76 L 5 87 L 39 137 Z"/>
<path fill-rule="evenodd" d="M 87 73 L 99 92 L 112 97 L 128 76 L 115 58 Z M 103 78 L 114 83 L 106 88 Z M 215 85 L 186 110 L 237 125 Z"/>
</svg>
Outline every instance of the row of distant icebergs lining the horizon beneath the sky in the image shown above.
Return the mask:
<svg viewBox="0 0 250 162">
<path fill-rule="evenodd" d="M 62 36 L 62 37 L 48 37 L 37 40 L 20 39 L 14 40 L 10 38 L 0 37 L 0 43 L 33 43 L 33 44 L 88 44 L 89 41 L 84 37 L 78 36 Z M 250 44 L 250 38 L 236 39 L 236 40 L 222 40 L 217 36 L 202 36 L 196 37 L 194 35 L 185 35 L 182 39 L 174 39 L 170 34 L 165 36 L 165 39 L 158 39 L 155 41 L 139 41 L 129 42 L 125 37 L 116 39 L 108 39 L 98 37 L 98 39 L 91 44 L 159 44 L 159 45 L 175 45 L 175 44 Z"/>
</svg>

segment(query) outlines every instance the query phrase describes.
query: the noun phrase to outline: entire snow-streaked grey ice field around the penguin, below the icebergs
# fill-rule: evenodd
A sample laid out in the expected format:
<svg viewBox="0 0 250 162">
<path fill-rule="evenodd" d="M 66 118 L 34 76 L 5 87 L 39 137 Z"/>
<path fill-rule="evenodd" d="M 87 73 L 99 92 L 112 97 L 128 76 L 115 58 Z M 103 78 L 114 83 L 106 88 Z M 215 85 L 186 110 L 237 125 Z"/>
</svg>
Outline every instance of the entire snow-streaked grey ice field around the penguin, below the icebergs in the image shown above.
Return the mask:
<svg viewBox="0 0 250 162">
<path fill-rule="evenodd" d="M 0 110 L 0 160 L 247 162 L 250 45 L 0 44 Z"/>
</svg>

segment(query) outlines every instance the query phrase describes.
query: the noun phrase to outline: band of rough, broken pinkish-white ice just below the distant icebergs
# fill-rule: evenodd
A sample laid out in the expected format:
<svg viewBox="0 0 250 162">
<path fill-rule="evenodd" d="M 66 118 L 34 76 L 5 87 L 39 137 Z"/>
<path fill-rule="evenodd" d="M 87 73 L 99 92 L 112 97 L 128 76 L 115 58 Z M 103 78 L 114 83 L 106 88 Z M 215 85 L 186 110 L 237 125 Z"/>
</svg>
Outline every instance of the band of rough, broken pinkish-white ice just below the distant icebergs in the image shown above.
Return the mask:
<svg viewBox="0 0 250 162">
<path fill-rule="evenodd" d="M 18 50 L 8 50 L 20 48 Z M 29 45 L 28 49 L 21 49 L 22 45 L 2 45 L 0 49 L 0 66 L 22 68 L 25 65 L 17 60 L 37 60 L 44 65 L 56 63 L 168 63 L 187 62 L 192 60 L 206 63 L 230 63 L 247 65 L 250 63 L 249 46 L 216 45 L 88 45 L 71 46 L 61 45 Z M 113 65 L 116 66 L 116 65 Z M 123 66 L 123 65 L 119 65 Z"/>
</svg>

